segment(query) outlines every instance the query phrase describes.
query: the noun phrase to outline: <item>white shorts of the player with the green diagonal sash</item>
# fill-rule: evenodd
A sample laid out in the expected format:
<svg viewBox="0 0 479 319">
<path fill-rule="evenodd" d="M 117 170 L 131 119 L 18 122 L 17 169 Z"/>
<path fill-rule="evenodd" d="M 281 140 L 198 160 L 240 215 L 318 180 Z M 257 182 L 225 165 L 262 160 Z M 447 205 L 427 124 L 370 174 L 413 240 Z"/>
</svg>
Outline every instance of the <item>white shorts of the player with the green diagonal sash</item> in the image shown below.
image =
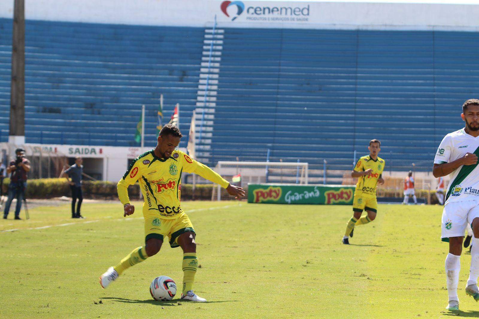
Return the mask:
<svg viewBox="0 0 479 319">
<path fill-rule="evenodd" d="M 442 240 L 464 236 L 467 225 L 476 217 L 479 217 L 479 199 L 447 203 L 441 221 Z"/>
</svg>

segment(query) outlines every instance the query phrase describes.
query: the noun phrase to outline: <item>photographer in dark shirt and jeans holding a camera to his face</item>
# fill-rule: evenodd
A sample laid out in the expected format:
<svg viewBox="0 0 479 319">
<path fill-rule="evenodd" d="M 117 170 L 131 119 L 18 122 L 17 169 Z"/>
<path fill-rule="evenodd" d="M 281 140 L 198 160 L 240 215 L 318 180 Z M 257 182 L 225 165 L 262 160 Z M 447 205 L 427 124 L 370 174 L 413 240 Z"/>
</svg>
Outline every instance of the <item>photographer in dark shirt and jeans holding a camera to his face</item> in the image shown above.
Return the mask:
<svg viewBox="0 0 479 319">
<path fill-rule="evenodd" d="M 3 218 L 7 219 L 10 210 L 11 201 L 17 199 L 15 208 L 15 219 L 20 218 L 20 209 L 22 201 L 25 198 L 25 189 L 27 186 L 27 173 L 30 171 L 30 161 L 25 158 L 25 150 L 17 148 L 15 150 L 16 159 L 12 160 L 7 167 L 7 173 L 11 173 L 10 184 L 8 185 L 8 199 L 5 203 Z"/>
</svg>

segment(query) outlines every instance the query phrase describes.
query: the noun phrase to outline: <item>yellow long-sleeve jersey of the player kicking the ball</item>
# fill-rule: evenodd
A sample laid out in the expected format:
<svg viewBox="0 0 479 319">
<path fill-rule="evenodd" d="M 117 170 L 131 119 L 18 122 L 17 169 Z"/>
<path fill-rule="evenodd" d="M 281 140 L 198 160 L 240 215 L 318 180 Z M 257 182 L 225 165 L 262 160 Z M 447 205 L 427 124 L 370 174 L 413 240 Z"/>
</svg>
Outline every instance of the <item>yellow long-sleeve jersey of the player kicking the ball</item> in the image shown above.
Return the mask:
<svg viewBox="0 0 479 319">
<path fill-rule="evenodd" d="M 198 174 L 223 188 L 229 185 L 217 172 L 180 150 L 175 149 L 169 159 L 160 159 L 150 150 L 134 159 L 118 182 L 118 198 L 123 205 L 129 204 L 128 186 L 138 181 L 145 200 L 145 219 L 153 215 L 163 219 L 177 218 L 182 212 L 180 202 L 183 171 Z"/>
</svg>

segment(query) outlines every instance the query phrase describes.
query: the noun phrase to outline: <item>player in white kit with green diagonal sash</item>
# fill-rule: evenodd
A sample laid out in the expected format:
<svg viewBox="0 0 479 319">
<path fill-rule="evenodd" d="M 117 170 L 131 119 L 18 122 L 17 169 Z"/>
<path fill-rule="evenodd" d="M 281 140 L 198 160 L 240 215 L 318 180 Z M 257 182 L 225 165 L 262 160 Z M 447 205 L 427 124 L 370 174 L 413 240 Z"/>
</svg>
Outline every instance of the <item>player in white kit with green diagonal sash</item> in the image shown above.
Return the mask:
<svg viewBox="0 0 479 319">
<path fill-rule="evenodd" d="M 466 294 L 479 300 L 479 100 L 470 99 L 462 105 L 461 118 L 466 125 L 447 134 L 434 158 L 434 177 L 449 175 L 449 185 L 441 222 L 441 238 L 449 241 L 445 261 L 447 293 L 446 309 L 458 310 L 457 285 L 461 269 L 460 255 L 464 231 L 472 224 L 471 266 Z"/>
</svg>

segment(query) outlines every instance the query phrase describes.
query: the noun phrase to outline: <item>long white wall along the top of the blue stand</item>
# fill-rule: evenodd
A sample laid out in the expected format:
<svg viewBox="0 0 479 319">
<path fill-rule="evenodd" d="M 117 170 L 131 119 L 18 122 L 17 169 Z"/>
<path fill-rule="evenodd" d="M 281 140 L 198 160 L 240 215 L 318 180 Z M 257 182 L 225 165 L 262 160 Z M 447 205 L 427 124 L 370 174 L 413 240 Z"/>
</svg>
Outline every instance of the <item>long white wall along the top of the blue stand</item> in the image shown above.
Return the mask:
<svg viewBox="0 0 479 319">
<path fill-rule="evenodd" d="M 25 0 L 27 19 L 88 23 L 210 27 L 342 28 L 391 30 L 479 30 L 479 5 L 358 2 L 242 1 L 245 10 L 235 21 L 236 6 L 221 11 L 222 0 Z M 307 21 L 273 22 L 288 15 L 254 14 L 256 7 L 309 6 Z M 248 8 L 250 12 L 248 13 Z M 252 9 L 251 9 L 252 8 Z M 267 9 L 266 9 L 267 10 Z M 12 17 L 13 0 L 0 1 L 0 17 Z M 306 12 L 306 11 L 305 11 Z M 252 21 L 264 18 L 266 21 Z M 295 16 L 296 18 L 296 16 Z"/>
</svg>

